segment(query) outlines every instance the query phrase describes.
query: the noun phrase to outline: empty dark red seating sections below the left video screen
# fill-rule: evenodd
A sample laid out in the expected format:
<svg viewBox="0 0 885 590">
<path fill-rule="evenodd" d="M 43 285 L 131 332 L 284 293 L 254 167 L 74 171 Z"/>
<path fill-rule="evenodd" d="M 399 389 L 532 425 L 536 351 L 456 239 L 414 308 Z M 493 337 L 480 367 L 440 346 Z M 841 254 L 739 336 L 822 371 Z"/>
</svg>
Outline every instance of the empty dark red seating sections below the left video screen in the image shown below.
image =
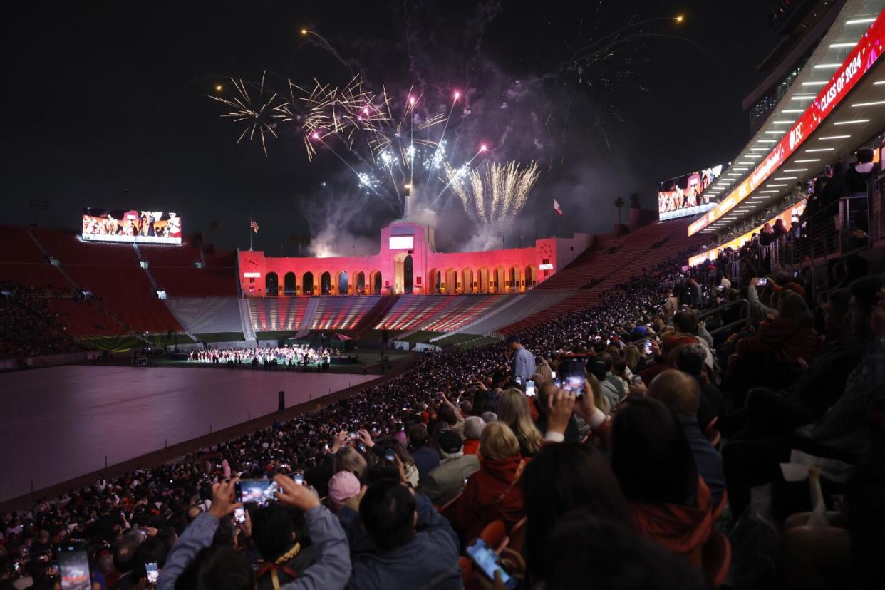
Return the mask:
<svg viewBox="0 0 885 590">
<path fill-rule="evenodd" d="M 83 242 L 76 234 L 40 227 L 5 227 L 0 236 L 0 280 L 29 287 L 79 287 L 96 295 L 92 303 L 66 297 L 50 303 L 50 310 L 62 318 L 69 333 L 79 337 L 181 331 L 181 324 L 158 299 L 155 284 L 167 295 L 225 295 L 236 305 L 233 251 L 211 248 L 211 254 L 204 256 L 196 241 L 137 248 Z M 58 260 L 58 266 L 50 264 L 50 257 Z M 149 261 L 149 268 L 142 269 L 140 260 Z M 197 268 L 197 261 L 204 268 Z M 197 314 L 197 326 L 231 323 L 226 307 L 209 308 Z"/>
</svg>

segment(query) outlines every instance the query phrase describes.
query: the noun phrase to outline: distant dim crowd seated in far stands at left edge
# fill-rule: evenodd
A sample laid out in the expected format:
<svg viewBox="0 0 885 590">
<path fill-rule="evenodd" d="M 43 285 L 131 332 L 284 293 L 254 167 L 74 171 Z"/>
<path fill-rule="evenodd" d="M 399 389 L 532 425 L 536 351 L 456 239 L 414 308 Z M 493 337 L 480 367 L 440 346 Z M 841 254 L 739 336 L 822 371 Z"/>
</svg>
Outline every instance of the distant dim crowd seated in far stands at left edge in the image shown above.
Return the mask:
<svg viewBox="0 0 885 590">
<path fill-rule="evenodd" d="M 60 292 L 0 283 L 0 358 L 54 355 L 82 350 L 49 310 Z M 68 294 L 65 294 L 68 295 Z"/>
</svg>

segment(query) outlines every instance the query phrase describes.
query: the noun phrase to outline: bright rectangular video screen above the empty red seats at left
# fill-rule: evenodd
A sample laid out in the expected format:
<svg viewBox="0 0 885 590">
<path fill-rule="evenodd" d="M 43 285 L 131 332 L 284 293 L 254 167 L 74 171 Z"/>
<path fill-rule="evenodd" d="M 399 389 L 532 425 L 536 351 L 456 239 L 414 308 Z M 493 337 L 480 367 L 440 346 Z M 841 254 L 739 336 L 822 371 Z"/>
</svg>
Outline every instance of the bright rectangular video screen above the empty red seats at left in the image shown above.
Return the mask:
<svg viewBox="0 0 885 590">
<path fill-rule="evenodd" d="M 83 240 L 180 244 L 181 218 L 163 211 L 83 210 Z"/>
</svg>

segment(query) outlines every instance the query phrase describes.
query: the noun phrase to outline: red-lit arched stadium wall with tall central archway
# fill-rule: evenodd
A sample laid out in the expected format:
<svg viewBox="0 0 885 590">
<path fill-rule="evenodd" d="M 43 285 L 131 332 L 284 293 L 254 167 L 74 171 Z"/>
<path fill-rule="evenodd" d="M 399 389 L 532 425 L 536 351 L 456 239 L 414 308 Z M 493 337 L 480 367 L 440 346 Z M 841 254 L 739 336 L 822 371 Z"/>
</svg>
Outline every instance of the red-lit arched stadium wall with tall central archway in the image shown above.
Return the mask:
<svg viewBox="0 0 885 590">
<path fill-rule="evenodd" d="M 575 234 L 537 240 L 528 248 L 440 253 L 433 229 L 404 222 L 381 230 L 381 248 L 373 256 L 290 258 L 241 251 L 238 276 L 246 297 L 345 295 L 345 280 L 347 295 L 389 295 L 409 292 L 406 259 L 411 257 L 416 295 L 524 293 L 591 241 L 589 234 Z"/>
</svg>

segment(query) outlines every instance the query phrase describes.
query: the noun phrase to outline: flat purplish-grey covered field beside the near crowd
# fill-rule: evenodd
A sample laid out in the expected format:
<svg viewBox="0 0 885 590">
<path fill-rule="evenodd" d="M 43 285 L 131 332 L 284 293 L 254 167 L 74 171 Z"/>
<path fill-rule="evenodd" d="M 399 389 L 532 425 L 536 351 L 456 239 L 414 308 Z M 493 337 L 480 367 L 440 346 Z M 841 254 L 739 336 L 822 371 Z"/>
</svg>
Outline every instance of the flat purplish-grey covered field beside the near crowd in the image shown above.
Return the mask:
<svg viewBox="0 0 885 590">
<path fill-rule="evenodd" d="M 0 502 L 373 375 L 67 365 L 0 375 Z"/>
</svg>

